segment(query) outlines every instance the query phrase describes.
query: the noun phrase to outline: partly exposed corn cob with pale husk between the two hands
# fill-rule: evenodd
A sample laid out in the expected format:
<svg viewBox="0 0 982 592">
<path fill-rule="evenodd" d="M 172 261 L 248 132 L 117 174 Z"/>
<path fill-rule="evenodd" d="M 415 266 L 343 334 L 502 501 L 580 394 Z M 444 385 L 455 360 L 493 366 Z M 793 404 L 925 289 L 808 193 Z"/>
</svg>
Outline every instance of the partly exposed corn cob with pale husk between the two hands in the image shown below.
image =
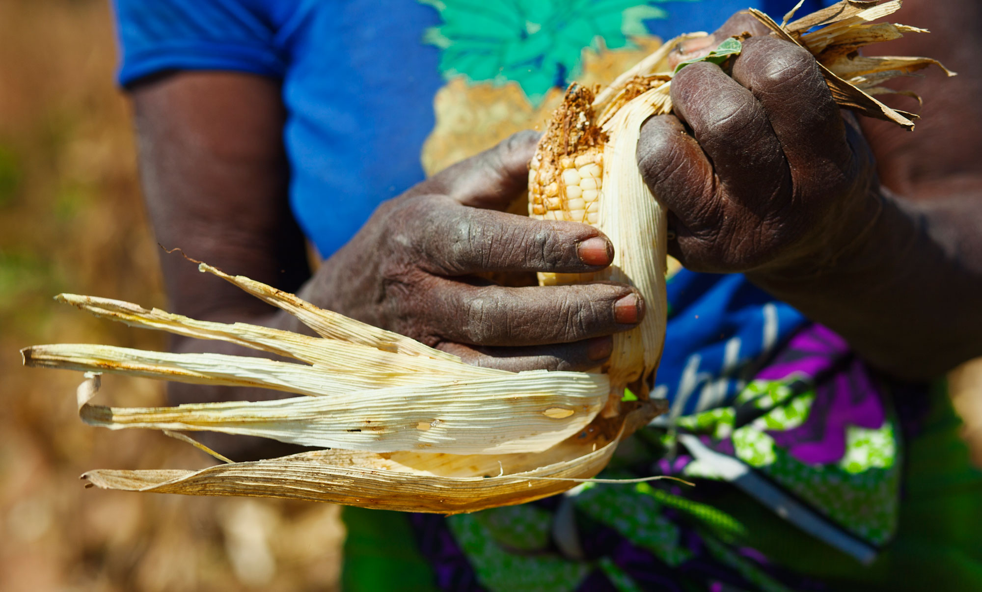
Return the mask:
<svg viewBox="0 0 982 592">
<path fill-rule="evenodd" d="M 539 283 L 621 282 L 637 289 L 646 304 L 639 326 L 614 337 L 602 368 L 611 379 L 606 416 L 619 413 L 628 385 L 647 401 L 648 380 L 665 338 L 665 214 L 634 163 L 641 124 L 671 108 L 668 80 L 630 79 L 622 92 L 607 95 L 608 102 L 619 101 L 616 109 L 598 101 L 592 89 L 571 84 L 529 164 L 529 216 L 590 224 L 615 245 L 609 268 L 594 274 L 540 273 Z M 600 112 L 604 116 L 598 117 Z"/>
</svg>

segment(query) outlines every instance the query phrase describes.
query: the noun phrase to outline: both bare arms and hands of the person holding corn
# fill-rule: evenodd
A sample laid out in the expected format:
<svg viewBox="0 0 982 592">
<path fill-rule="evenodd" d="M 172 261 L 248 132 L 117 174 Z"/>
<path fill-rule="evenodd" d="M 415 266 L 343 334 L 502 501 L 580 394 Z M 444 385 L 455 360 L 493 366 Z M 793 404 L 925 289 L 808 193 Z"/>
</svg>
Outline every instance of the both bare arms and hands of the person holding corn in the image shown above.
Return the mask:
<svg viewBox="0 0 982 592">
<path fill-rule="evenodd" d="M 746 41 L 733 78 L 711 64 L 685 68 L 673 83 L 676 115 L 649 120 L 638 150 L 646 182 L 670 210 L 670 252 L 684 265 L 744 272 L 875 366 L 915 380 L 982 354 L 982 122 L 974 111 L 982 42 L 965 32 L 978 30 L 982 15 L 972 0 L 948 4 L 942 12 L 958 19 L 908 0 L 900 21 L 934 32 L 867 52 L 929 55 L 961 74 L 900 81 L 925 99 L 914 134 L 864 121 L 864 138 L 806 52 L 762 37 Z M 755 27 L 737 16 L 685 49 L 706 51 Z M 610 336 L 643 315 L 626 286 L 504 288 L 476 275 L 594 271 L 611 259 L 610 243 L 591 227 L 503 212 L 525 184 L 534 135 L 382 204 L 311 275 L 287 205 L 277 82 L 186 72 L 132 91 L 144 193 L 165 246 L 510 370 L 596 366 Z M 177 255 L 162 256 L 162 265 L 176 312 L 300 330 Z M 246 353 L 181 339 L 174 349 Z M 282 396 L 191 385 L 173 385 L 171 395 L 175 403 Z"/>
</svg>

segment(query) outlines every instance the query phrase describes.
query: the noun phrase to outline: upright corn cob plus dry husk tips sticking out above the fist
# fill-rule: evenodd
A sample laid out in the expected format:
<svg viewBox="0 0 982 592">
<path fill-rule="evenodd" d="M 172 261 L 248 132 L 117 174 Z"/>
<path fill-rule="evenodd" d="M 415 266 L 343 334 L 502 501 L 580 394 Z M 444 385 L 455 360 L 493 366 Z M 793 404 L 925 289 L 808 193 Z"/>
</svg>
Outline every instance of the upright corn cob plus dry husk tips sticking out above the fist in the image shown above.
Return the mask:
<svg viewBox="0 0 982 592">
<path fill-rule="evenodd" d="M 941 65 L 928 58 L 862 58 L 856 54 L 862 45 L 897 38 L 903 32 L 924 32 L 916 27 L 869 24 L 899 8 L 900 0 L 881 5 L 846 1 L 786 27 L 758 11 L 751 13 L 778 36 L 817 56 L 841 105 L 912 129 L 915 116 L 890 109 L 870 93 L 890 92 L 879 85 L 882 81 Z M 792 10 L 786 16 L 786 23 L 793 14 Z M 826 26 L 809 32 L 820 24 Z M 664 343 L 665 213 L 640 179 L 634 162 L 641 124 L 648 117 L 672 110 L 666 50 L 681 40 L 666 43 L 599 96 L 589 88 L 571 84 L 529 164 L 529 216 L 595 226 L 614 242 L 616 253 L 611 267 L 603 272 L 540 273 L 539 284 L 627 283 L 641 293 L 648 306 L 636 329 L 615 336 L 613 353 L 603 368 L 611 377 L 612 388 L 607 414 L 616 414 L 627 385 L 642 399 L 647 397 Z M 846 75 L 847 81 L 839 78 L 840 74 Z"/>
</svg>

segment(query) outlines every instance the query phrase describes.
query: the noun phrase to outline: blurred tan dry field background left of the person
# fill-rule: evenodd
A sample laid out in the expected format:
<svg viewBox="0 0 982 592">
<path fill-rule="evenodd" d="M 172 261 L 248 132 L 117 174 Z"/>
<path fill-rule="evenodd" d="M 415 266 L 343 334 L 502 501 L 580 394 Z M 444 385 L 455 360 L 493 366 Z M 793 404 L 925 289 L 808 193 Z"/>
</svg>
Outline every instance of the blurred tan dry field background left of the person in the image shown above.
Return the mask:
<svg viewBox="0 0 982 592">
<path fill-rule="evenodd" d="M 82 425 L 80 374 L 21 366 L 34 344 L 166 348 L 51 299 L 165 306 L 115 68 L 107 0 L 0 1 L 0 590 L 335 590 L 336 507 L 83 489 L 90 468 L 213 462 Z M 104 385 L 103 404 L 164 403 L 154 381 Z"/>
</svg>

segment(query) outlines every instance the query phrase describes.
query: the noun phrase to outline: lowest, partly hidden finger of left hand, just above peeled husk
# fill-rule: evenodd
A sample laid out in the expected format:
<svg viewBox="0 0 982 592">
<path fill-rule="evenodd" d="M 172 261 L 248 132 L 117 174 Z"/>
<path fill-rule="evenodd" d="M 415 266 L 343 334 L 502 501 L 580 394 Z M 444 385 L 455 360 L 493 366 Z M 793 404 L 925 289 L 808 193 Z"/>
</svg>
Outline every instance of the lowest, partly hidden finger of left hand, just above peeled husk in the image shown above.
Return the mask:
<svg viewBox="0 0 982 592">
<path fill-rule="evenodd" d="M 585 372 L 598 368 L 614 350 L 614 339 L 598 337 L 573 344 L 554 344 L 533 348 L 482 348 L 453 342 L 437 345 L 461 357 L 465 363 L 510 372 L 551 370 Z"/>
</svg>

